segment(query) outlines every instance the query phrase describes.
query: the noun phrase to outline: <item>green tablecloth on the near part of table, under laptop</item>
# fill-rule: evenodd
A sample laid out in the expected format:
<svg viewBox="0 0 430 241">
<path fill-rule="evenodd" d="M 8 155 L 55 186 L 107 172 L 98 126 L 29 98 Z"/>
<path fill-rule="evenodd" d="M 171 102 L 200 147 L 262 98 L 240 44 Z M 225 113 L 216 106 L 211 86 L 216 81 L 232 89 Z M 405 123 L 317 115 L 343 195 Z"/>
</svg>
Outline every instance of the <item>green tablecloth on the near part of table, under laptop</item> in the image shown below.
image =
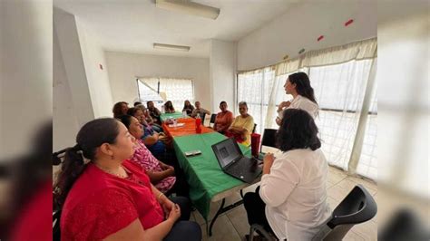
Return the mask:
<svg viewBox="0 0 430 241">
<path fill-rule="evenodd" d="M 190 198 L 201 216 L 208 218 L 210 199 L 216 194 L 243 184 L 239 179 L 232 178 L 220 169 L 211 146 L 225 136 L 218 132 L 200 135 L 182 136 L 173 139 L 176 155 L 190 184 Z M 250 157 L 251 150 L 239 145 L 242 153 Z M 185 157 L 184 152 L 199 149 L 201 154 L 194 157 Z"/>
</svg>

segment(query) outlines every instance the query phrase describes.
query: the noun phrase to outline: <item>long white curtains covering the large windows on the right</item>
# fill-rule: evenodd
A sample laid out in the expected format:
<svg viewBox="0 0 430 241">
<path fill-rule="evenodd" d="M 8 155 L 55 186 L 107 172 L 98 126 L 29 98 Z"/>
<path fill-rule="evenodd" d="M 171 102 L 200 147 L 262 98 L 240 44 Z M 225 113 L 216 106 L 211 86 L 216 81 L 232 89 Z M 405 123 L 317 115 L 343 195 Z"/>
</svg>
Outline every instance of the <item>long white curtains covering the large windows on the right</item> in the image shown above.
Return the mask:
<svg viewBox="0 0 430 241">
<path fill-rule="evenodd" d="M 292 100 L 283 87 L 288 75 L 307 72 L 320 107 L 316 122 L 328 162 L 350 173 L 376 178 L 376 85 L 372 79 L 375 76 L 370 74 L 376 65 L 376 45 L 376 38 L 348 43 L 242 72 L 238 78 L 238 101 L 261 103 L 251 109 L 261 112 L 260 116 L 252 113 L 264 123 L 259 131 L 278 128 L 277 105 Z M 267 84 L 261 73 L 265 69 L 275 73 Z M 264 101 L 261 96 L 266 96 Z M 262 108 L 266 105 L 266 109 Z"/>
</svg>

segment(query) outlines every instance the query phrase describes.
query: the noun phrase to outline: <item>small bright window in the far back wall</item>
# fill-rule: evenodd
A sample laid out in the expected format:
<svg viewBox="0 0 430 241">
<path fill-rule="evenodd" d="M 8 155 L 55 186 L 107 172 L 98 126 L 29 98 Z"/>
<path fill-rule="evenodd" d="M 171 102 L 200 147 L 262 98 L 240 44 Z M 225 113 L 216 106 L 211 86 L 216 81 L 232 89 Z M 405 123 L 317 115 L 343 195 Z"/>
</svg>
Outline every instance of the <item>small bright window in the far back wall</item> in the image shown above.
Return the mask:
<svg viewBox="0 0 430 241">
<path fill-rule="evenodd" d="M 139 78 L 139 99 L 154 101 L 161 107 L 164 101 L 171 101 L 177 111 L 181 111 L 183 101 L 194 101 L 194 86 L 190 79 Z"/>
</svg>

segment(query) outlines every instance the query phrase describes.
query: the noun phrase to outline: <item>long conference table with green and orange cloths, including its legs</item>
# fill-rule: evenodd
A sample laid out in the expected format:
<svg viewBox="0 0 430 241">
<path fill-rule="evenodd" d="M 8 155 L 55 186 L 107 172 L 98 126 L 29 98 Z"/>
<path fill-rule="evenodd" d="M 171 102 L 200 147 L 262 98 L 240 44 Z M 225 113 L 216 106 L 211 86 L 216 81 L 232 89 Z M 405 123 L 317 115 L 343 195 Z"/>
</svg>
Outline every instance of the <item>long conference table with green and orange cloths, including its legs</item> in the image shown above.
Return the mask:
<svg viewBox="0 0 430 241">
<path fill-rule="evenodd" d="M 241 189 L 248 187 L 250 184 L 237 178 L 232 178 L 220 169 L 220 164 L 211 146 L 221 140 L 225 140 L 224 135 L 207 127 L 201 127 L 202 133 L 196 133 L 195 120 L 192 118 L 179 119 L 178 124 L 180 126 L 173 127 L 163 123 L 162 128 L 173 139 L 176 156 L 190 185 L 191 202 L 206 220 L 208 234 L 211 236 L 212 227 L 217 217 L 243 203 L 243 200 L 239 200 L 228 207 L 224 207 L 225 198 L 238 191 L 241 194 Z M 239 144 L 239 148 L 245 156 L 250 157 L 251 150 L 248 147 Z M 201 154 L 186 157 L 184 152 L 191 150 L 200 150 Z M 211 220 L 210 227 L 208 227 L 210 205 L 220 200 L 220 208 Z"/>
</svg>

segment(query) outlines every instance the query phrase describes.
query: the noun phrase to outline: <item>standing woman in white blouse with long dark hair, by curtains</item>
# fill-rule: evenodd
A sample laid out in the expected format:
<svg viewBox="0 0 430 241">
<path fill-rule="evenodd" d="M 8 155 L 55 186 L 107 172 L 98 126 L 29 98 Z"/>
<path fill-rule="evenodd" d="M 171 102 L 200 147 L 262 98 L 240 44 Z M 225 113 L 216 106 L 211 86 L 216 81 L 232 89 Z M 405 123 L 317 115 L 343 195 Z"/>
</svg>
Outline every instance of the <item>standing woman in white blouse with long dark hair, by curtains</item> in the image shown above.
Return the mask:
<svg viewBox="0 0 430 241">
<path fill-rule="evenodd" d="M 295 72 L 288 76 L 284 84 L 285 92 L 293 96 L 293 101 L 282 101 L 278 106 L 278 117 L 276 122 L 280 125 L 283 111 L 286 109 L 301 109 L 315 119 L 318 114 L 318 103 L 315 100 L 314 89 L 310 86 L 306 72 Z"/>
</svg>

